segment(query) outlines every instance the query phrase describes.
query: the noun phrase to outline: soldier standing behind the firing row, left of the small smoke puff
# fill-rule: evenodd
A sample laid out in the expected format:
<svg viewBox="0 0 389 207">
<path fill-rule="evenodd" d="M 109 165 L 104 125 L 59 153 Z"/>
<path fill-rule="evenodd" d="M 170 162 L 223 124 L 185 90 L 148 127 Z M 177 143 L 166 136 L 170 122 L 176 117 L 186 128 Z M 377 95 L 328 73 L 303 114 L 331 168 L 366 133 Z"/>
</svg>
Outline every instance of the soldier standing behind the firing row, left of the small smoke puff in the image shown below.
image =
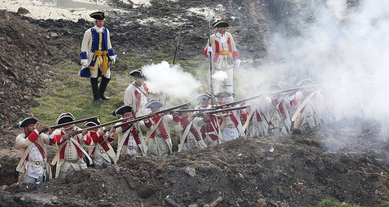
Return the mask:
<svg viewBox="0 0 389 207">
<path fill-rule="evenodd" d="M 150 95 L 149 89 L 147 82 L 144 81 L 142 69 L 134 69 L 130 72 L 130 75 L 134 77 L 134 82 L 124 91 L 124 105 L 131 105 L 135 116 L 141 117 L 150 111 L 145 108 L 147 98 Z"/>
</svg>

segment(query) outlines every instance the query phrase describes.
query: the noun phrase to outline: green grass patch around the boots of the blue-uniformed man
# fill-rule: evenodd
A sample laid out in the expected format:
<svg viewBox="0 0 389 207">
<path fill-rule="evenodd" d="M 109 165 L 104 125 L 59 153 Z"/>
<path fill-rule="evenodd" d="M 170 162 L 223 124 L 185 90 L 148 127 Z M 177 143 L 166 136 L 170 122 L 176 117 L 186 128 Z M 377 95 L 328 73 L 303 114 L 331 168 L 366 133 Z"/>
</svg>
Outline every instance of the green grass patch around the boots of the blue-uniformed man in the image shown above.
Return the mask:
<svg viewBox="0 0 389 207">
<path fill-rule="evenodd" d="M 93 104 L 92 89 L 88 78 L 77 76 L 80 66 L 66 62 L 53 67 L 56 80 L 48 84 L 47 92 L 35 100 L 39 103 L 31 109 L 39 123 L 53 125 L 61 113 L 70 112 L 76 119 L 100 115 L 100 121 L 113 121 L 111 114 L 122 106 L 124 90 L 132 82 L 124 73 L 115 72 L 109 82 L 106 95 L 111 98 L 101 104 Z"/>
</svg>

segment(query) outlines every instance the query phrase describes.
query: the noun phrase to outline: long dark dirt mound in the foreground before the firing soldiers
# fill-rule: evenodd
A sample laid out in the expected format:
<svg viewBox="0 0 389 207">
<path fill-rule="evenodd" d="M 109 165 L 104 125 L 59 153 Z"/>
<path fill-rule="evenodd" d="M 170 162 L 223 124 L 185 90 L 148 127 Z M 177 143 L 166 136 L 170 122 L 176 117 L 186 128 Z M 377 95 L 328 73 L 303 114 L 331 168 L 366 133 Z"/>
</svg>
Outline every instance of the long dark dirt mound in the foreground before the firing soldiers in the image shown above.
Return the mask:
<svg viewBox="0 0 389 207">
<path fill-rule="evenodd" d="M 35 192 L 57 198 L 42 203 L 31 197 L 39 205 L 164 206 L 168 198 L 203 206 L 221 196 L 222 206 L 256 207 L 258 199 L 268 206 L 310 206 L 330 197 L 372 206 L 389 199 L 388 147 L 375 122 L 345 121 L 301 136 L 240 138 L 166 159 L 124 157 L 74 179 L 9 188 L 0 199 L 25 205 L 15 195 Z"/>
</svg>

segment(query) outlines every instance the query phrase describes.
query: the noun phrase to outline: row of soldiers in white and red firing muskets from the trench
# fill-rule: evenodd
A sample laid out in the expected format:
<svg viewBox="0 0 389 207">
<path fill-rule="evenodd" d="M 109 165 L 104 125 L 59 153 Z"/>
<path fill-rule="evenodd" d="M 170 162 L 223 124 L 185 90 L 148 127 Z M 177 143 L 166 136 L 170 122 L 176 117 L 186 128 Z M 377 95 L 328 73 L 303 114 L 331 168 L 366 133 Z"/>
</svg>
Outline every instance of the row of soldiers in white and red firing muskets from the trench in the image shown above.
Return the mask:
<svg viewBox="0 0 389 207">
<path fill-rule="evenodd" d="M 96 168 L 116 163 L 120 156 L 162 156 L 172 155 L 172 139 L 169 126 L 173 126 L 179 134 L 178 151 L 206 148 L 239 137 L 263 137 L 277 133 L 288 133 L 292 126 L 293 108 L 295 112 L 294 127 L 301 130 L 316 127 L 321 124 L 322 112 L 318 109 L 319 91 L 307 87 L 296 93 L 276 93 L 261 99 L 241 102 L 238 105 L 249 105 L 248 109 L 231 110 L 203 116 L 190 116 L 186 112 L 155 114 L 132 124 L 123 124 L 127 118 L 142 117 L 148 113 L 159 112 L 163 104 L 157 100 L 148 100 L 150 92 L 141 69 L 130 72 L 134 82 L 124 93 L 124 106 L 113 114 L 120 115 L 123 121 L 116 123 L 120 127 L 105 130 L 104 127 L 90 131 L 80 129 L 74 124 L 66 125 L 75 120 L 71 113 L 63 113 L 55 124 L 63 124 L 62 129 L 46 128 L 36 125 L 37 119 L 30 117 L 20 121 L 18 127 L 24 128 L 24 133 L 16 138 L 20 148 L 21 159 L 17 167 L 18 183 L 39 183 L 52 178 L 50 163 L 46 155 L 46 145 L 57 145 L 51 165 L 56 165 L 55 177 L 63 178 L 73 175 L 76 171 L 88 168 L 93 164 Z M 306 79 L 299 86 L 310 86 L 312 80 Z M 258 85 L 250 84 L 244 87 L 250 93 L 258 93 Z M 271 91 L 282 89 L 280 85 L 268 86 Z M 313 95 L 312 95 L 313 94 Z M 220 90 L 214 94 L 219 105 L 224 109 L 235 94 L 228 90 Z M 212 94 L 199 94 L 196 99 L 199 105 L 195 110 L 214 108 L 211 104 Z M 181 108 L 187 109 L 187 108 Z M 242 124 L 242 121 L 245 121 Z M 84 122 L 87 127 L 100 125 L 98 119 Z M 48 131 L 48 134 L 44 132 Z M 82 131 L 72 135 L 74 131 Z M 145 134 L 144 134 L 145 133 Z M 110 143 L 117 136 L 116 153 Z"/>
</svg>

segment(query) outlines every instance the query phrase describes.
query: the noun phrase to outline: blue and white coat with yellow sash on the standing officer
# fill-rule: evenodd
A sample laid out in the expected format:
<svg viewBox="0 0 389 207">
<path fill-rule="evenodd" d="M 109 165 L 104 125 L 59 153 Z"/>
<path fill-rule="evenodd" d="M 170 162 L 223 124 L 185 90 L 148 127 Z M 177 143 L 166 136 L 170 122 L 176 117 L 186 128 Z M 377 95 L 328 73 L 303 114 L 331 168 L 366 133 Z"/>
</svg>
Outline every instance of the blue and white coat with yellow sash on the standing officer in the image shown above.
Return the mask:
<svg viewBox="0 0 389 207">
<path fill-rule="evenodd" d="M 106 27 L 103 27 L 103 32 L 98 32 L 96 26 L 85 32 L 81 44 L 80 57 L 81 63 L 88 63 L 88 68 L 81 69 L 81 77 L 89 78 L 89 69 L 98 69 L 98 61 L 102 63 L 99 76 L 105 74 L 106 70 L 109 69 L 108 63 L 116 58 L 109 39 L 109 31 Z"/>
</svg>

